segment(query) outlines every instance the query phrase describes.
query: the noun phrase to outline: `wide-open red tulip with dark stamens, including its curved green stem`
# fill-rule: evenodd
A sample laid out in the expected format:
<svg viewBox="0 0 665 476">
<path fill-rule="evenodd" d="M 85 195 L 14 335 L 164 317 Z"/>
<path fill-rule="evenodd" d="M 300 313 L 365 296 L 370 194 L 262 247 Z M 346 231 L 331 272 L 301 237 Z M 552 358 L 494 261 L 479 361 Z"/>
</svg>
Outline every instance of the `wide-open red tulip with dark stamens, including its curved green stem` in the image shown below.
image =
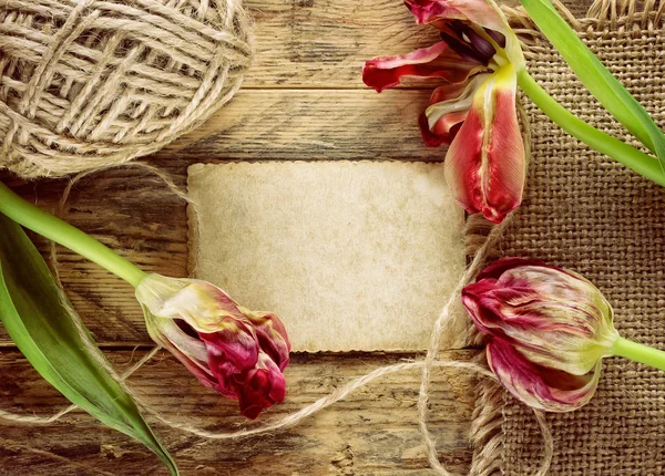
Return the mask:
<svg viewBox="0 0 665 476">
<path fill-rule="evenodd" d="M 540 87 L 526 71 L 518 37 L 493 0 L 405 0 L 405 4 L 418 23 L 438 29 L 441 41 L 406 55 L 367 61 L 362 80 L 378 92 L 398 85 L 407 76 L 443 82 L 433 91 L 419 124 L 427 145 L 449 145 L 448 186 L 469 213 L 481 213 L 488 220 L 500 223 L 522 200 L 526 159 L 515 108 L 518 85 L 571 135 L 665 186 L 658 161 L 582 122 Z M 582 73 L 595 68 L 590 55 L 576 56 L 589 66 L 581 66 Z M 607 77 L 602 77 L 596 74 L 587 83 L 608 84 Z M 610 105 L 620 104 L 620 120 L 631 124 L 628 128 L 638 138 L 644 138 L 647 146 L 664 142 L 658 138 L 659 130 L 653 130 L 651 117 L 645 112 L 640 114 L 638 104 L 625 90 L 624 95 L 616 95 L 617 87 L 607 87 L 603 99 Z M 630 104 L 623 107 L 623 103 Z M 665 154 L 665 145 L 662 148 Z"/>
</svg>

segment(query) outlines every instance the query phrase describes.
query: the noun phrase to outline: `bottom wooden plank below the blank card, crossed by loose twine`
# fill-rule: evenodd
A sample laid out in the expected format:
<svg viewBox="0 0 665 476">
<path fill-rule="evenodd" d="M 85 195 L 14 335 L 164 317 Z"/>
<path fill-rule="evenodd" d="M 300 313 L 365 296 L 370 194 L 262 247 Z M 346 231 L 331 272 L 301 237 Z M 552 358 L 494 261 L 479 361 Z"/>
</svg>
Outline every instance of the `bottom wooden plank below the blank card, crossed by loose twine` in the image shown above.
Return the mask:
<svg viewBox="0 0 665 476">
<path fill-rule="evenodd" d="M 113 351 L 126 369 L 144 351 Z M 469 360 L 473 351 L 446 352 Z M 397 363 L 398 354 L 295 354 L 287 368 L 288 396 L 259 418 L 278 418 L 328 394 L 377 366 Z M 66 401 L 30 368 L 17 351 L 0 354 L 3 410 L 50 415 Z M 237 441 L 208 442 L 155 424 L 183 475 L 420 475 L 428 467 L 416 424 L 419 371 L 382 377 L 347 400 L 293 428 Z M 468 470 L 466 443 L 474 376 L 437 370 L 431 394 L 431 430 L 441 461 Z M 168 417 L 218 431 L 246 424 L 237 402 L 200 385 L 167 353 L 160 353 L 134 376 L 132 386 Z M 152 475 L 165 474 L 156 457 L 124 435 L 76 412 L 49 426 L 19 426 L 0 421 L 0 474 L 3 475 Z M 27 469 L 29 468 L 29 469 Z M 28 473 L 27 473 L 28 472 Z"/>
</svg>

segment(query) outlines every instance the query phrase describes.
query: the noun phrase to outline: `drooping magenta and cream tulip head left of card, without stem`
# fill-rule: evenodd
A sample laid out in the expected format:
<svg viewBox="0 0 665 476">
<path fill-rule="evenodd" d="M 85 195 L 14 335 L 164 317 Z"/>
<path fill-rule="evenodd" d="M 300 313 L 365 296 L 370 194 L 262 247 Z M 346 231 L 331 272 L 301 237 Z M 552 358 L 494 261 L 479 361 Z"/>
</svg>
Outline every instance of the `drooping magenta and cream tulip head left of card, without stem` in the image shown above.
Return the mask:
<svg viewBox="0 0 665 476">
<path fill-rule="evenodd" d="M 196 279 L 147 275 L 136 287 L 151 338 L 206 386 L 258 414 L 286 395 L 290 344 L 279 318 L 236 304 Z"/>
</svg>

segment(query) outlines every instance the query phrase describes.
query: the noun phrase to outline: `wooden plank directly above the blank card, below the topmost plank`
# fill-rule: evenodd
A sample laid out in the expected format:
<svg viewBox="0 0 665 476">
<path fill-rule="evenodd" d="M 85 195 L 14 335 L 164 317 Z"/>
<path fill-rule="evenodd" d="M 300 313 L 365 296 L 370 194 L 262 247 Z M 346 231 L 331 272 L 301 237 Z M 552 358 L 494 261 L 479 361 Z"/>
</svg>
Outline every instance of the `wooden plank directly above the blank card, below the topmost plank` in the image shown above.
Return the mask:
<svg viewBox="0 0 665 476">
<path fill-rule="evenodd" d="M 418 90 L 242 90 L 155 157 L 441 161 L 444 148 L 424 146 L 418 127 L 429 96 Z"/>
</svg>

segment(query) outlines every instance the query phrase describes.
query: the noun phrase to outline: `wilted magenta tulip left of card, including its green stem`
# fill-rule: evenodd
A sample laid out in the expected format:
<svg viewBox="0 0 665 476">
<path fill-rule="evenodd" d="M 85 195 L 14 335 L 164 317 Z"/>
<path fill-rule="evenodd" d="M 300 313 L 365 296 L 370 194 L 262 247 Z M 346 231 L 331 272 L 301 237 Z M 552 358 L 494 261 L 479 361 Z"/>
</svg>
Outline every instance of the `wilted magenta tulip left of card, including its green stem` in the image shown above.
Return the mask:
<svg viewBox="0 0 665 476">
<path fill-rule="evenodd" d="M 290 344 L 277 315 L 249 311 L 205 281 L 149 275 L 2 183 L 0 213 L 132 284 L 151 338 L 204 385 L 238 400 L 245 416 L 255 418 L 284 400 Z"/>
</svg>

